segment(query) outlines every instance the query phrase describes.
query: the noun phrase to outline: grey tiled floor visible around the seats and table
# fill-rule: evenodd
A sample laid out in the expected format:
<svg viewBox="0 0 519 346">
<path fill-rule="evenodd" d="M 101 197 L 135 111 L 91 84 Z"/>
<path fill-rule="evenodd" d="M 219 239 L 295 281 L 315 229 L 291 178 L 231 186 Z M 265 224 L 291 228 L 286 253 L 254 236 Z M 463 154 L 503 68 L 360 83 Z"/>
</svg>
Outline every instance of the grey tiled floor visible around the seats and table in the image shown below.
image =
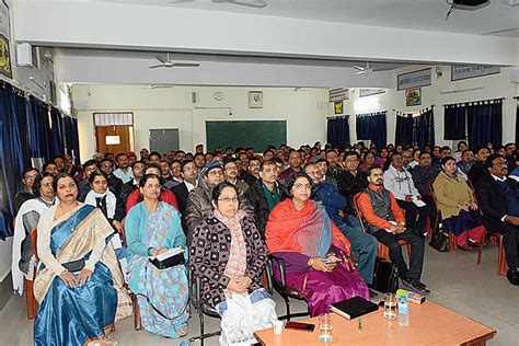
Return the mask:
<svg viewBox="0 0 519 346">
<path fill-rule="evenodd" d="M 519 287 L 511 286 L 506 278 L 497 276 L 495 245 L 484 250 L 483 263 L 480 265 L 475 264 L 476 255 L 475 252 L 461 251 L 438 253 L 427 246 L 423 281 L 432 291 L 428 299 L 496 328 L 497 335 L 489 345 L 519 345 Z M 1 301 L 10 293 L 0 290 L 0 295 Z M 19 296 L 10 296 L 5 305 L 0 305 L 0 345 L 31 345 L 33 323 L 25 318 L 25 301 Z M 279 297 L 276 300 L 278 313 L 281 314 L 285 305 Z M 300 302 L 292 305 L 293 311 L 304 309 L 304 304 Z M 134 331 L 131 318 L 118 323 L 116 328 L 114 338 L 119 345 L 180 344 L 180 341 Z M 206 318 L 206 331 L 218 328 L 218 320 Z M 197 335 L 198 331 L 198 321 L 194 319 L 187 338 Z M 206 345 L 218 345 L 218 338 L 208 339 Z"/>
</svg>

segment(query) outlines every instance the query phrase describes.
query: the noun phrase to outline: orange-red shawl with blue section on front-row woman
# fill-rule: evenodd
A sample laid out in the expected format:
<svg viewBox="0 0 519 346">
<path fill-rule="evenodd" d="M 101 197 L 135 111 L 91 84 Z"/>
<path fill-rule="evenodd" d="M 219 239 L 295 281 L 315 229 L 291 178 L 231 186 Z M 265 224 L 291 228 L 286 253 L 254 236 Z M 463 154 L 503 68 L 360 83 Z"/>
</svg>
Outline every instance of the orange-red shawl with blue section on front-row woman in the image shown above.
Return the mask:
<svg viewBox="0 0 519 346">
<path fill-rule="evenodd" d="M 324 208 L 308 200 L 296 210 L 292 200 L 280 201 L 268 216 L 265 228 L 268 253 L 299 252 L 310 257 L 324 257 L 331 245 L 349 255 L 349 241 L 330 220 Z"/>
</svg>

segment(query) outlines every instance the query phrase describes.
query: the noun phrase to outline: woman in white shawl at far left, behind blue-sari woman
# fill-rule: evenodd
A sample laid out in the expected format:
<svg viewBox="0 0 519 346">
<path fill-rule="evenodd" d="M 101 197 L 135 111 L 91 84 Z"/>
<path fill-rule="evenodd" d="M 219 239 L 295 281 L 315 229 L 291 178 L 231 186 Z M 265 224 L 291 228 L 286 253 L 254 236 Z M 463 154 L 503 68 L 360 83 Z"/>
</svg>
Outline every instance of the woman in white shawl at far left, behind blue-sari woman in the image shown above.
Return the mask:
<svg viewBox="0 0 519 346">
<path fill-rule="evenodd" d="M 35 258 L 31 243 L 31 231 L 36 228 L 44 210 L 54 206 L 55 195 L 53 188 L 54 175 L 42 172 L 36 175 L 33 191 L 34 196 L 20 207 L 14 221 L 13 253 L 11 262 L 11 276 L 13 289 L 23 295 L 23 279 L 33 280 Z"/>
</svg>

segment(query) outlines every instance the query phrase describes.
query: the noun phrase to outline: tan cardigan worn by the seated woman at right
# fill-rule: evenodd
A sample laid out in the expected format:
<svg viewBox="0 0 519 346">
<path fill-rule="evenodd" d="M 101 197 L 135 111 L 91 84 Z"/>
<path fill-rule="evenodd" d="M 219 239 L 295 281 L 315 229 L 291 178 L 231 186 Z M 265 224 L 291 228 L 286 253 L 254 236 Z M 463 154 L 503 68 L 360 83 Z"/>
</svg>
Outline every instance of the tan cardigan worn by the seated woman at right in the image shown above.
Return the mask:
<svg viewBox="0 0 519 346">
<path fill-rule="evenodd" d="M 459 205 L 474 201 L 472 191 L 461 175 L 455 180 L 441 171 L 432 183 L 432 189 L 443 219 L 460 215 Z"/>
</svg>

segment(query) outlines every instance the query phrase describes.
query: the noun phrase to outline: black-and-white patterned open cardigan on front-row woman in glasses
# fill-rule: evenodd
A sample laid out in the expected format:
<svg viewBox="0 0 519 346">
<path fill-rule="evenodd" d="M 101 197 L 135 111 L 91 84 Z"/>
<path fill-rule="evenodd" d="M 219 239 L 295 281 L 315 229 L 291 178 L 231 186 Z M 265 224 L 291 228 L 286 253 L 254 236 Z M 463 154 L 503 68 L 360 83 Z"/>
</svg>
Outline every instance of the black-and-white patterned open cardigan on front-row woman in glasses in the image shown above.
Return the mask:
<svg viewBox="0 0 519 346">
<path fill-rule="evenodd" d="M 267 251 L 253 218 L 245 216 L 240 226 L 246 245 L 245 275 L 252 279 L 249 287 L 249 292 L 252 292 L 263 287 L 262 275 L 267 261 Z M 211 307 L 226 300 L 223 289 L 229 285 L 230 278 L 223 273 L 229 262 L 230 246 L 229 228 L 212 212 L 195 227 L 189 246 L 191 269 L 203 279 L 201 298 Z"/>
</svg>

